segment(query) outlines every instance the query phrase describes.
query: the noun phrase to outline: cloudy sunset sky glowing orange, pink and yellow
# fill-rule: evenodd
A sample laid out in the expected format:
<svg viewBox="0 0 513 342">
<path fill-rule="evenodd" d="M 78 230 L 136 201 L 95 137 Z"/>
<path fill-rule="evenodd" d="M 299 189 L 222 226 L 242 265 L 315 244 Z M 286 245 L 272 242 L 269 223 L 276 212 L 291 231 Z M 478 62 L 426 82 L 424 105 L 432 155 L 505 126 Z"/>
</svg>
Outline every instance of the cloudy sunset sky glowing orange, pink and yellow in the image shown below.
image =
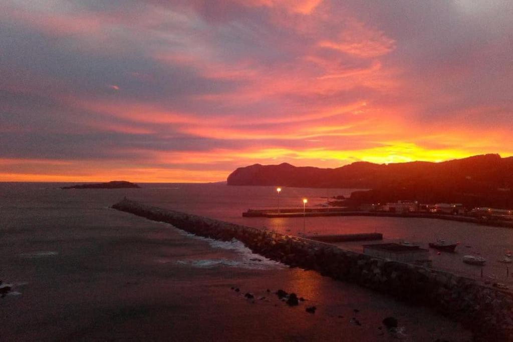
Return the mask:
<svg viewBox="0 0 513 342">
<path fill-rule="evenodd" d="M 507 0 L 2 0 L 0 181 L 513 155 Z"/>
</svg>

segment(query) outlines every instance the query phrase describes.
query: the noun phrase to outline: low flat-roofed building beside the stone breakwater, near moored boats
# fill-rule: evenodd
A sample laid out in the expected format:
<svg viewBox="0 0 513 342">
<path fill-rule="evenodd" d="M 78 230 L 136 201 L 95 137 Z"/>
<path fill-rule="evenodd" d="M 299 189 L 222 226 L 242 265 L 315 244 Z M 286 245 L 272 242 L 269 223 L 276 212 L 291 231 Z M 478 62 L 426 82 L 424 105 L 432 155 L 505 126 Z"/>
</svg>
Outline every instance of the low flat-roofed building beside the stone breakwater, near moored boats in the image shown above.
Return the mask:
<svg viewBox="0 0 513 342">
<path fill-rule="evenodd" d="M 400 244 L 363 245 L 363 254 L 403 263 L 422 263 L 429 260 L 429 251 L 419 246 Z"/>
</svg>

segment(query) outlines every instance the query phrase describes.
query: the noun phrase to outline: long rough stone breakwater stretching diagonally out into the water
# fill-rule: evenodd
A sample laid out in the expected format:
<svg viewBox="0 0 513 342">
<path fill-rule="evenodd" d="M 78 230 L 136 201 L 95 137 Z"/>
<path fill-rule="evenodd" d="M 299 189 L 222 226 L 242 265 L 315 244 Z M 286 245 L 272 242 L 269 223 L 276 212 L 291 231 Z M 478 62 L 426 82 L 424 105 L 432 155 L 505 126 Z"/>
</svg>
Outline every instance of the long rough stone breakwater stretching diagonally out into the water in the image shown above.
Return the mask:
<svg viewBox="0 0 513 342">
<path fill-rule="evenodd" d="M 253 252 L 290 267 L 312 269 L 413 305 L 431 307 L 471 329 L 477 340 L 513 341 L 513 295 L 469 278 L 127 199 L 112 208 L 166 222 L 200 236 L 235 238 Z"/>
</svg>

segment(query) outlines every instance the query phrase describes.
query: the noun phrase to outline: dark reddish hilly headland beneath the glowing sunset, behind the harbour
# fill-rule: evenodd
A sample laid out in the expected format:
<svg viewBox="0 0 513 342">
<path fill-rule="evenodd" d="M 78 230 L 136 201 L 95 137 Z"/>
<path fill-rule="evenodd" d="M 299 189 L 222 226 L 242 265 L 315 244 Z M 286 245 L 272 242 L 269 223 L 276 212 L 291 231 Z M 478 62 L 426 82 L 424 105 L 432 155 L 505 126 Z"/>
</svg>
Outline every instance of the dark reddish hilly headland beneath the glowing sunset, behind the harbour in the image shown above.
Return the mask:
<svg viewBox="0 0 513 342">
<path fill-rule="evenodd" d="M 233 171 L 227 184 L 372 189 L 354 192 L 349 202 L 355 204 L 415 199 L 511 208 L 513 157 L 485 154 L 442 163 L 388 165 L 358 162 L 336 169 L 255 164 Z"/>
</svg>

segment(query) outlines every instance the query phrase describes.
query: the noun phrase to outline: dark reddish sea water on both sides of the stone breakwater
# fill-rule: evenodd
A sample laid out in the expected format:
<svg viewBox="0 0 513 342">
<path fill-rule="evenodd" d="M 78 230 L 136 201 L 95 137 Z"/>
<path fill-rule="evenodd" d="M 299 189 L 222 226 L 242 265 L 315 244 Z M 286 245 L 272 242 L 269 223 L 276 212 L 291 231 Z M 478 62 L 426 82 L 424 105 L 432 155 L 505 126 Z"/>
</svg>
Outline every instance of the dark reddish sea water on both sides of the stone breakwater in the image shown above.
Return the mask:
<svg viewBox="0 0 513 342">
<path fill-rule="evenodd" d="M 381 232 L 385 242 L 427 247 L 433 268 L 507 283 L 498 263 L 513 249 L 506 228 L 423 218 L 242 217 L 247 209 L 322 206 L 354 189 L 140 184 L 140 189 L 62 190 L 68 183 L 0 183 L 0 340 L 454 341 L 459 324 L 314 271 L 289 268 L 237 240 L 219 242 L 110 207 L 123 198 L 286 234 Z M 341 248 L 361 251 L 361 243 Z M 483 268 L 462 263 L 480 253 Z M 483 277 L 481 277 L 483 270 Z M 499 279 L 499 280 L 497 280 Z M 288 307 L 274 292 L 305 298 Z M 238 290 L 238 291 L 237 291 Z M 246 296 L 250 294 L 251 296 Z M 249 298 L 248 298 L 249 297 Z M 315 306 L 314 314 L 306 312 Z M 399 320 L 388 332 L 381 321 Z"/>
</svg>

